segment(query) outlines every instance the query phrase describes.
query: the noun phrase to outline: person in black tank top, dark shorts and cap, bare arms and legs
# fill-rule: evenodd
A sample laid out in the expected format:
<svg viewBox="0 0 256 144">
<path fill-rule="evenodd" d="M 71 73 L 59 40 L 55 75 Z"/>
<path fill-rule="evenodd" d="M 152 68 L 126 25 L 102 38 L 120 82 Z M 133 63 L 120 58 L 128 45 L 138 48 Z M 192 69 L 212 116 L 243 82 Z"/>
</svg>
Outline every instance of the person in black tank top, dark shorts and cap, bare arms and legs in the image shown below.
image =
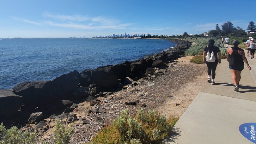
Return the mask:
<svg viewBox="0 0 256 144">
<path fill-rule="evenodd" d="M 233 41 L 233 47 L 228 49 L 227 61 L 229 62 L 229 69 L 232 73 L 232 80 L 235 85 L 234 91 L 239 91 L 239 81 L 241 80 L 241 72 L 244 69 L 244 63 L 248 69 L 252 68 L 249 66 L 247 58 L 245 57 L 244 50 L 238 47 L 238 40 Z"/>
</svg>

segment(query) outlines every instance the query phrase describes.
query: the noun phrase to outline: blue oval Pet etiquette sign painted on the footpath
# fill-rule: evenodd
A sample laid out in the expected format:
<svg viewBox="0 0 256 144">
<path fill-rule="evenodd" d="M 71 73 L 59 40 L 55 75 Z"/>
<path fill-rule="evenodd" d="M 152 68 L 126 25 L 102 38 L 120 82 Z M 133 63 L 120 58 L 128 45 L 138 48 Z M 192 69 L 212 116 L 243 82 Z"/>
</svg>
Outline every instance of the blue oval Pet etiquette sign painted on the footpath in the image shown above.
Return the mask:
<svg viewBox="0 0 256 144">
<path fill-rule="evenodd" d="M 256 143 L 256 123 L 244 123 L 239 126 L 240 133 L 249 141 Z"/>
</svg>

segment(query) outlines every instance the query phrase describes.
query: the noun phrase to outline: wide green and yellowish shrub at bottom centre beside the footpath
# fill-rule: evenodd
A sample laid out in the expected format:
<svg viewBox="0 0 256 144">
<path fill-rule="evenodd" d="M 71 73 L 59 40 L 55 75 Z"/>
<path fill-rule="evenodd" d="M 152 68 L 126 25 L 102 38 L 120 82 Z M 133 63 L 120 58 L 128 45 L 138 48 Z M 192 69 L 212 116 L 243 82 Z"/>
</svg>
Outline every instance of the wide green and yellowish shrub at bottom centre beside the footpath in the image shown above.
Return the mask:
<svg viewBox="0 0 256 144">
<path fill-rule="evenodd" d="M 126 109 L 121 111 L 113 126 L 103 128 L 95 135 L 92 143 L 161 143 L 171 133 L 177 121 L 177 117 L 166 119 L 155 110 L 146 113 L 143 108 L 137 111 L 136 117 L 132 118 Z"/>
</svg>

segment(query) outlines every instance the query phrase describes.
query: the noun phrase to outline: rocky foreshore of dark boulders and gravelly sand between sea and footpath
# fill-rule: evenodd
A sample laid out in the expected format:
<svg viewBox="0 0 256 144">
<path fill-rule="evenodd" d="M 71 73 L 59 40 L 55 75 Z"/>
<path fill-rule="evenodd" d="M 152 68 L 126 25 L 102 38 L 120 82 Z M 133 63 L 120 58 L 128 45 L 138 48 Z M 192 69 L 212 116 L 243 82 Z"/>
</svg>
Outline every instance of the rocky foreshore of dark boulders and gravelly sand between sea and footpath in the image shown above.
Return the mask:
<svg viewBox="0 0 256 144">
<path fill-rule="evenodd" d="M 204 73 L 200 70 L 204 65 L 198 68 L 177 61 L 191 42 L 171 41 L 176 43 L 174 48 L 133 62 L 85 69 L 81 73 L 74 70 L 52 81 L 24 81 L 13 91 L 1 90 L 0 121 L 6 126 L 36 129 L 42 140 L 51 143 L 54 122 L 62 119 L 67 125 L 75 124 L 71 141 L 86 142 L 125 108 L 131 113 L 141 106 L 165 111 L 165 99 L 173 99 L 188 77 Z M 177 105 L 180 104 L 174 107 Z M 82 130 L 88 133 L 76 134 Z"/>
</svg>

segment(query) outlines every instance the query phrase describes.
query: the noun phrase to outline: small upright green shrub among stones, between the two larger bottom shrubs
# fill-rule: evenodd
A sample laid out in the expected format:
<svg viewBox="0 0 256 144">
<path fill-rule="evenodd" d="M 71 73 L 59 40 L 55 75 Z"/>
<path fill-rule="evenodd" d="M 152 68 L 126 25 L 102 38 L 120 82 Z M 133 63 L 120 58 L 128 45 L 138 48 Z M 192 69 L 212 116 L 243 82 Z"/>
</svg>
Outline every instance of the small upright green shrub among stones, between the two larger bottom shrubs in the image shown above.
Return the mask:
<svg viewBox="0 0 256 144">
<path fill-rule="evenodd" d="M 60 120 L 56 121 L 54 131 L 56 144 L 68 144 L 72 133 L 72 125 L 70 125 L 68 129 L 66 129 L 65 125 L 61 123 Z"/>
</svg>

